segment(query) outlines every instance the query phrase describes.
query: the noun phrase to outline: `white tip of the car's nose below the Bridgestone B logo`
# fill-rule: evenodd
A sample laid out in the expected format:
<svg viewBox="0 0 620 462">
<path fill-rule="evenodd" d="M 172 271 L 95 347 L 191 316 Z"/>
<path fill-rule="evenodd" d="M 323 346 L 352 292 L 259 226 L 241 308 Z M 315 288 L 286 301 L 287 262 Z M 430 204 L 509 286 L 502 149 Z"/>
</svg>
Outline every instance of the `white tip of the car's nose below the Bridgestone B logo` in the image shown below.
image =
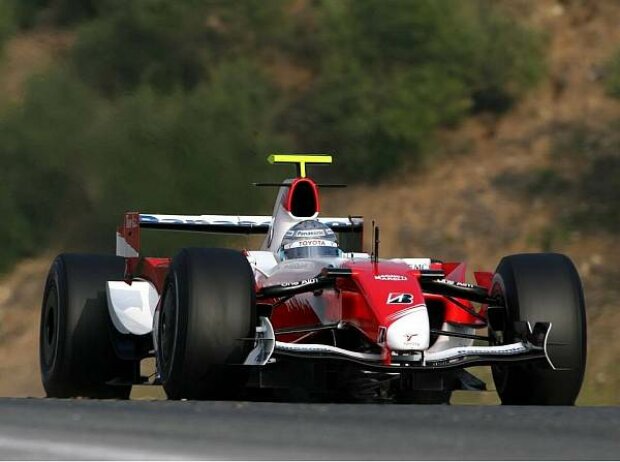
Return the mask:
<svg viewBox="0 0 620 462">
<path fill-rule="evenodd" d="M 388 348 L 393 351 L 426 350 L 430 341 L 426 306 L 408 308 L 395 315 L 397 319 L 387 328 Z"/>
</svg>

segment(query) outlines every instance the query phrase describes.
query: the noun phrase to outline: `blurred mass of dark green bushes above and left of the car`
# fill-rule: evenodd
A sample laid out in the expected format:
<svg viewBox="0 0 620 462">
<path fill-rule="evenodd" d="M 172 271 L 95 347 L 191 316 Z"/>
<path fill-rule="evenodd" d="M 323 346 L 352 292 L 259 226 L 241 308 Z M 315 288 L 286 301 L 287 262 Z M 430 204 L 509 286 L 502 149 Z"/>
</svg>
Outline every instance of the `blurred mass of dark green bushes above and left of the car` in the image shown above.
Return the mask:
<svg viewBox="0 0 620 462">
<path fill-rule="evenodd" d="M 269 213 L 269 152 L 335 153 L 349 182 L 436 161 L 438 129 L 545 74 L 491 0 L 0 0 L 0 44 L 45 27 L 74 39 L 0 110 L 2 268 L 110 250 L 126 210 Z"/>
</svg>

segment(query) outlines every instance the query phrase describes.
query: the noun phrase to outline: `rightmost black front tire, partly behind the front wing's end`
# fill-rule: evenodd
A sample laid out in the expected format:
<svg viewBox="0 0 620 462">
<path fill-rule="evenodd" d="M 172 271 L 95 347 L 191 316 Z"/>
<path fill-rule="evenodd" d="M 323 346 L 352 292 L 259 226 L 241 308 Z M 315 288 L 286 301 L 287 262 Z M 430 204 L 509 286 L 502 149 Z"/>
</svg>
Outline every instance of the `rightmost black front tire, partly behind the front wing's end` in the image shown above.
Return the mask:
<svg viewBox="0 0 620 462">
<path fill-rule="evenodd" d="M 548 353 L 554 366 L 562 369 L 493 366 L 502 404 L 573 405 L 586 365 L 586 314 L 581 280 L 571 260 L 553 253 L 504 257 L 491 293 L 506 306 L 503 343 L 517 341 L 511 328 L 514 321 L 529 321 L 532 326 L 551 322 Z"/>
</svg>

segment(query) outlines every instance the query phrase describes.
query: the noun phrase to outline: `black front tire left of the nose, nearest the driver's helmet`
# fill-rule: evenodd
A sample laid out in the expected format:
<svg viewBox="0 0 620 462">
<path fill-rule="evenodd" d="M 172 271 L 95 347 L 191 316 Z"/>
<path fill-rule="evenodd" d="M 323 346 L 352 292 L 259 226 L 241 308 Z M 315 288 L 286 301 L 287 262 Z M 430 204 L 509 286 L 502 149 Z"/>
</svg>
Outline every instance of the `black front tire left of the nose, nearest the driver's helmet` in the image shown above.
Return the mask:
<svg viewBox="0 0 620 462">
<path fill-rule="evenodd" d="M 158 366 L 170 399 L 234 398 L 256 331 L 254 276 L 229 249 L 189 248 L 172 261 L 157 321 Z M 235 367 L 237 366 L 237 367 Z"/>
</svg>

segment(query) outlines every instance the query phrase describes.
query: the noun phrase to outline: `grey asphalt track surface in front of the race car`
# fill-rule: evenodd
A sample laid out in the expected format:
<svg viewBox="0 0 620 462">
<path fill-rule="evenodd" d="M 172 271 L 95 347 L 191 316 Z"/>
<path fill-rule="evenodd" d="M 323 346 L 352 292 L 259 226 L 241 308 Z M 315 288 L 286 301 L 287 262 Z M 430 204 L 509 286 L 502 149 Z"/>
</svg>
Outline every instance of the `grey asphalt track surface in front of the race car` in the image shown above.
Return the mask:
<svg viewBox="0 0 620 462">
<path fill-rule="evenodd" d="M 620 408 L 0 400 L 2 459 L 620 459 Z"/>
</svg>

